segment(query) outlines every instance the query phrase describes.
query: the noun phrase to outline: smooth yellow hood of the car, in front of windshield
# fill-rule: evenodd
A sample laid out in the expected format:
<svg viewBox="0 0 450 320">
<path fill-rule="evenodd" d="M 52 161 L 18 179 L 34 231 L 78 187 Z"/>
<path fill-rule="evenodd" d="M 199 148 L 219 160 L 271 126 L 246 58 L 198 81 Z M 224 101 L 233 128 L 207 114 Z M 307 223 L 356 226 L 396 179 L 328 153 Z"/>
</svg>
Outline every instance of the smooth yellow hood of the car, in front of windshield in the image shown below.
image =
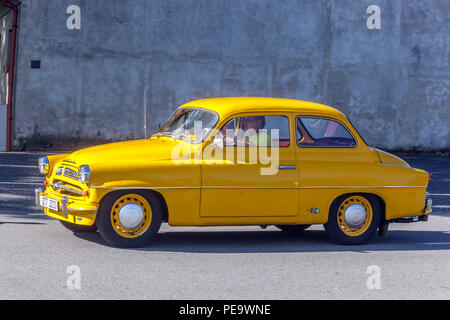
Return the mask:
<svg viewBox="0 0 450 320">
<path fill-rule="evenodd" d="M 64 161 L 80 166 L 134 160 L 170 160 L 172 151 L 178 143 L 180 141 L 171 138 L 150 138 L 108 143 L 75 151 Z"/>
</svg>

